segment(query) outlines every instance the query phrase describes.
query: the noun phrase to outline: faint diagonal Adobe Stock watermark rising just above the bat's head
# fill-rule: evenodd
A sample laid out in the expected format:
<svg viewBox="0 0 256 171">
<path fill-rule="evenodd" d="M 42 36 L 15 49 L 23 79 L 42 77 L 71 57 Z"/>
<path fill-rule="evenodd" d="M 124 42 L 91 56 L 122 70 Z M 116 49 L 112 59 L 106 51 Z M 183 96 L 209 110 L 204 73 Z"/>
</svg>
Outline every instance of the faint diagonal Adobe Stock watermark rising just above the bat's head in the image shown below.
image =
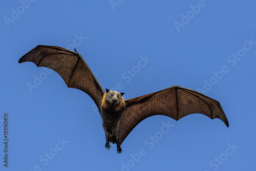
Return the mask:
<svg viewBox="0 0 256 171">
<path fill-rule="evenodd" d="M 131 82 L 131 80 L 136 77 L 136 75 L 139 74 L 141 69 L 146 67 L 146 65 L 152 60 L 151 58 L 148 58 L 147 55 L 145 54 L 144 56 L 140 55 L 139 60 L 137 62 L 137 65 L 133 66 L 131 69 L 127 69 L 124 73 L 121 74 L 121 78 L 125 80 L 126 83 Z M 111 88 L 110 90 L 120 92 L 124 88 L 124 83 L 119 81 L 115 84 L 115 87 Z M 98 114 L 98 108 L 95 103 L 92 105 L 92 109 L 94 111 L 94 114 Z"/>
</svg>

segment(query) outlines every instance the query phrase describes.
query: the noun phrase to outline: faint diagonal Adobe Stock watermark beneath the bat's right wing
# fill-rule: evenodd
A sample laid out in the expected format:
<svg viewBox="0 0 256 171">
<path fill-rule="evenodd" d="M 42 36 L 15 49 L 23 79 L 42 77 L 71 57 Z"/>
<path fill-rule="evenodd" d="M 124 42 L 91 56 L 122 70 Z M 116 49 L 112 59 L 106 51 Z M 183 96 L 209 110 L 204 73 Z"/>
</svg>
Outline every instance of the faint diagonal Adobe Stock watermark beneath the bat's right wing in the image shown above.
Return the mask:
<svg viewBox="0 0 256 171">
<path fill-rule="evenodd" d="M 130 154 L 129 160 L 126 162 L 121 162 L 121 171 L 129 171 L 132 167 L 134 167 L 136 163 L 140 161 L 141 157 L 147 154 L 147 149 L 152 149 L 155 144 L 157 144 L 159 140 L 161 140 L 163 136 L 167 134 L 172 129 L 172 127 L 174 127 L 173 124 L 170 124 L 169 120 L 167 122 L 162 121 L 162 124 L 163 125 L 160 127 L 159 131 L 157 131 L 153 136 L 151 135 L 144 140 L 144 145 L 147 148 L 139 148 L 138 153 Z"/>
</svg>

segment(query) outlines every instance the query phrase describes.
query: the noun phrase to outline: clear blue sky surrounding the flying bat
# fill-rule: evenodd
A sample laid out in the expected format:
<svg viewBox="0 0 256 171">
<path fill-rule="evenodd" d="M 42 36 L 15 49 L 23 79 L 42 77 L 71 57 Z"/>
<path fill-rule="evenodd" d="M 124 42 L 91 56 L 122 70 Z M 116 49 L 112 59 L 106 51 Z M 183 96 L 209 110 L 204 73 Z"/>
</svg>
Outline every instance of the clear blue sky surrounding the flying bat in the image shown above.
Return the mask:
<svg viewBox="0 0 256 171">
<path fill-rule="evenodd" d="M 255 5 L 1 2 L 0 170 L 255 169 Z M 115 144 L 108 151 L 86 93 L 68 89 L 49 69 L 18 63 L 37 45 L 75 47 L 102 87 L 124 92 L 125 99 L 173 84 L 203 92 L 221 103 L 229 127 L 201 114 L 179 121 L 154 116 L 124 140 L 121 154 Z M 3 162 L 5 113 L 9 168 Z"/>
</svg>

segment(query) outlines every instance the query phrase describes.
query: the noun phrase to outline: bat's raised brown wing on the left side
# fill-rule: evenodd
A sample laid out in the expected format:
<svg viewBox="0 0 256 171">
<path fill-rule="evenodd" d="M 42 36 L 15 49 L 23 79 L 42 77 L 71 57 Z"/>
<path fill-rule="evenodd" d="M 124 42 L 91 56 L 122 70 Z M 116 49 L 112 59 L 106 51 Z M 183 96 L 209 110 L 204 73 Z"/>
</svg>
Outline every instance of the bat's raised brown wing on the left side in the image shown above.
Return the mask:
<svg viewBox="0 0 256 171">
<path fill-rule="evenodd" d="M 61 47 L 38 45 L 18 62 L 27 61 L 34 62 L 37 67 L 56 71 L 69 88 L 86 92 L 100 111 L 104 90 L 81 55 Z"/>
</svg>

